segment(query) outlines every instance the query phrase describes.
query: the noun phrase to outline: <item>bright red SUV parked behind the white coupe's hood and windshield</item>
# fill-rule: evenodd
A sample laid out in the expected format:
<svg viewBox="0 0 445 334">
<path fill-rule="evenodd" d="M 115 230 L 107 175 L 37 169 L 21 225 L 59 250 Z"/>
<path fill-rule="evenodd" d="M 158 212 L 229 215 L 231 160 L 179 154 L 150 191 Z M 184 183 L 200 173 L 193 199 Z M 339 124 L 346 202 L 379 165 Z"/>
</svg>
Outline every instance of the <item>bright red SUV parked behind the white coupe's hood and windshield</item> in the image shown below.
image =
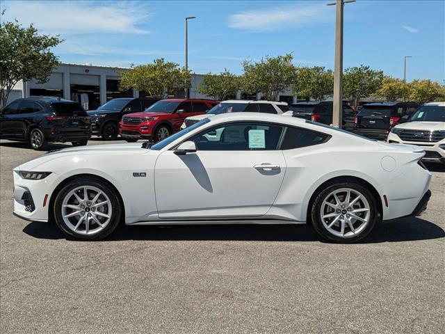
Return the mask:
<svg viewBox="0 0 445 334">
<path fill-rule="evenodd" d="M 123 116 L 119 133 L 128 142 L 141 138 L 162 141 L 177 132 L 185 118 L 205 113 L 218 103 L 204 99 L 160 100 L 143 112 Z"/>
</svg>

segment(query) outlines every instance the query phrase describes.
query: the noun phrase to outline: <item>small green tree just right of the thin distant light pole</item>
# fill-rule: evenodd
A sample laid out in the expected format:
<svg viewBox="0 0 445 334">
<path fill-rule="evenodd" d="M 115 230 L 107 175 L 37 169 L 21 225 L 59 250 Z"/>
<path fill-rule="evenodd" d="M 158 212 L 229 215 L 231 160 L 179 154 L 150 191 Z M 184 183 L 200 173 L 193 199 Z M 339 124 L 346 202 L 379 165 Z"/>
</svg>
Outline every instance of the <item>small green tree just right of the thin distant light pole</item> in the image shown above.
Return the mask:
<svg viewBox="0 0 445 334">
<path fill-rule="evenodd" d="M 202 84 L 198 86 L 197 91 L 200 94 L 213 97 L 215 100 L 227 100 L 230 96 L 236 95 L 241 89 L 241 78 L 236 74 L 225 70 L 220 74 L 206 74 Z"/>
</svg>

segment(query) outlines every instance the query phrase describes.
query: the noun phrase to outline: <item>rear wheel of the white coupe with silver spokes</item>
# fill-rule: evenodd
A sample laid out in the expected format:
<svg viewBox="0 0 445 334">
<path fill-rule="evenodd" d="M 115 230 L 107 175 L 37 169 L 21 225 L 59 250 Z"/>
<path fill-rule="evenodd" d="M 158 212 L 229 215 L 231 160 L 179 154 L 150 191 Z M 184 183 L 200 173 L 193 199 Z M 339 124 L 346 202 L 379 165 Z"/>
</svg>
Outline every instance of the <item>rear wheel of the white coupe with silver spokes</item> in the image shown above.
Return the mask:
<svg viewBox="0 0 445 334">
<path fill-rule="evenodd" d="M 339 182 L 318 193 L 312 205 L 312 223 L 318 234 L 334 242 L 363 239 L 378 220 L 371 191 L 361 184 Z"/>
</svg>

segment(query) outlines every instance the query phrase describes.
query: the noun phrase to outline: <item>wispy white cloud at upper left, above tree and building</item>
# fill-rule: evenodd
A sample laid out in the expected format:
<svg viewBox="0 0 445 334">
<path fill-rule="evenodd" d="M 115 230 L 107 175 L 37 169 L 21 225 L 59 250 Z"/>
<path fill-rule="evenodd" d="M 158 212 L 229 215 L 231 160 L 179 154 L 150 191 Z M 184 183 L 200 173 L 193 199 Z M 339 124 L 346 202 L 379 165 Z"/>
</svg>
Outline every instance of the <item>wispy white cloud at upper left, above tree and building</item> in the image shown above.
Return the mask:
<svg viewBox="0 0 445 334">
<path fill-rule="evenodd" d="M 141 3 L 111 1 L 5 1 L 6 19 L 35 24 L 44 33 L 79 35 L 84 33 L 143 34 L 140 29 L 149 13 Z"/>
</svg>

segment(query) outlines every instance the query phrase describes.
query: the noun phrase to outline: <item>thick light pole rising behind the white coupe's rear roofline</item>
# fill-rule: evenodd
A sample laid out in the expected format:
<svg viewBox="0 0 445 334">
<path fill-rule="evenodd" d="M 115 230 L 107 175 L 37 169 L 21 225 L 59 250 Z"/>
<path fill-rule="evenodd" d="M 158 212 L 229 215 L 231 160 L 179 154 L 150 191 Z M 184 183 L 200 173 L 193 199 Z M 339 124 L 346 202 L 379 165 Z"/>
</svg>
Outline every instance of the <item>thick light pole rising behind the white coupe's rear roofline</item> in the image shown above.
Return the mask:
<svg viewBox="0 0 445 334">
<path fill-rule="evenodd" d="M 343 6 L 345 3 L 355 0 L 337 0 L 327 3 L 327 6 L 335 5 L 335 59 L 334 59 L 334 113 L 332 125 L 340 127 L 343 116 Z"/>
</svg>

